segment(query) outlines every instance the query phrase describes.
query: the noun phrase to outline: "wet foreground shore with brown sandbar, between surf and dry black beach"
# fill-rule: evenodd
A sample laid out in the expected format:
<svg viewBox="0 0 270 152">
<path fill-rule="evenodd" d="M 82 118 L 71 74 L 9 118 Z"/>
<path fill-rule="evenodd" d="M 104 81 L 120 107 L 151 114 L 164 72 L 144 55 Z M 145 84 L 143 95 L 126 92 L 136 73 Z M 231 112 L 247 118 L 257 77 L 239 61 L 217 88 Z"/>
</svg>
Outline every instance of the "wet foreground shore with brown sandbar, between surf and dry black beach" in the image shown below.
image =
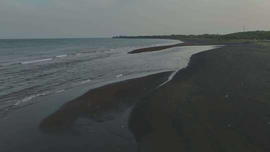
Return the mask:
<svg viewBox="0 0 270 152">
<path fill-rule="evenodd" d="M 0 149 L 137 151 L 136 140 L 128 128 L 131 108 L 170 74 L 171 71 L 160 72 L 88 91 L 77 88 L 62 91 L 60 96 L 43 96 L 39 102 L 14 109 L 0 119 L 0 140 L 3 141 Z M 82 94 L 77 97 L 78 93 Z M 72 102 L 70 98 L 74 98 Z M 13 142 L 22 138 L 20 142 Z"/>
</svg>

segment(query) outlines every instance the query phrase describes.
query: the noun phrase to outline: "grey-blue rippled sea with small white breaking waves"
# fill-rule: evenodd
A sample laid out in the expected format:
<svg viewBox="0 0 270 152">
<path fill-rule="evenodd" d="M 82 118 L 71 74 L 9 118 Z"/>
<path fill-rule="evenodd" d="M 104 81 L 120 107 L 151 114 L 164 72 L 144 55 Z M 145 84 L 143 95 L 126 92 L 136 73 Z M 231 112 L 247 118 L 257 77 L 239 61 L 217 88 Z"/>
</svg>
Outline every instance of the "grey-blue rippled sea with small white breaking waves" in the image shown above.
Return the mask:
<svg viewBox="0 0 270 152">
<path fill-rule="evenodd" d="M 80 85 L 163 70 L 160 66 L 149 68 L 148 61 L 128 57 L 131 55 L 127 52 L 178 42 L 114 38 L 0 39 L 0 110 Z"/>
</svg>

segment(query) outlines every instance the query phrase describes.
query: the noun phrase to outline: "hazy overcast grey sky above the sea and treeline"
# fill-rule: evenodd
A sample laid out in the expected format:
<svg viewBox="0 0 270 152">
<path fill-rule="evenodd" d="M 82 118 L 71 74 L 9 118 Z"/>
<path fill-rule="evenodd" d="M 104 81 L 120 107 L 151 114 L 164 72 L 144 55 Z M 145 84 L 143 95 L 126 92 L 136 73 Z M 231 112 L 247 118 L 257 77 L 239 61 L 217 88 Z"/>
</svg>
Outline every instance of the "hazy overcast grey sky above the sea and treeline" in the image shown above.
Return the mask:
<svg viewBox="0 0 270 152">
<path fill-rule="evenodd" d="M 0 0 L 0 38 L 270 30 L 270 0 Z"/>
</svg>

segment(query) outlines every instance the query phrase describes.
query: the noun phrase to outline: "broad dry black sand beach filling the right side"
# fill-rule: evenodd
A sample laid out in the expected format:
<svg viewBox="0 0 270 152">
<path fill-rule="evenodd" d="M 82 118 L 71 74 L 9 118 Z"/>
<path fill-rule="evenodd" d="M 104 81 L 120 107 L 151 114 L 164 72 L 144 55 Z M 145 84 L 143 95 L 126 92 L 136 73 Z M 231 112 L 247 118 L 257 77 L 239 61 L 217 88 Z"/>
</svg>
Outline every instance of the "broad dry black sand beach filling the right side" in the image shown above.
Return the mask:
<svg viewBox="0 0 270 152">
<path fill-rule="evenodd" d="M 192 55 L 136 104 L 141 151 L 270 151 L 270 49 L 237 44 Z"/>
</svg>

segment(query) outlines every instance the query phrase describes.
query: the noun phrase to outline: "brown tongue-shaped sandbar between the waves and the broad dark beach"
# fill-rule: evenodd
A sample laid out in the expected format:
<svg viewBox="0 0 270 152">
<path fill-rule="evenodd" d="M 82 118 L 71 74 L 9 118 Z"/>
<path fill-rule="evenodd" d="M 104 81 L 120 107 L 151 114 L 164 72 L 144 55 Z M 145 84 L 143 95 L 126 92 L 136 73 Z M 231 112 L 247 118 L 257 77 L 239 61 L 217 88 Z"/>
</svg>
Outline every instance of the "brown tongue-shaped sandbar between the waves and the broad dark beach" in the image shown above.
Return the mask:
<svg viewBox="0 0 270 152">
<path fill-rule="evenodd" d="M 76 133 L 78 128 L 74 124 L 79 118 L 100 123 L 116 119 L 166 81 L 170 73 L 161 72 L 91 89 L 63 104 L 60 109 L 46 117 L 39 128 L 49 134 Z"/>
</svg>

